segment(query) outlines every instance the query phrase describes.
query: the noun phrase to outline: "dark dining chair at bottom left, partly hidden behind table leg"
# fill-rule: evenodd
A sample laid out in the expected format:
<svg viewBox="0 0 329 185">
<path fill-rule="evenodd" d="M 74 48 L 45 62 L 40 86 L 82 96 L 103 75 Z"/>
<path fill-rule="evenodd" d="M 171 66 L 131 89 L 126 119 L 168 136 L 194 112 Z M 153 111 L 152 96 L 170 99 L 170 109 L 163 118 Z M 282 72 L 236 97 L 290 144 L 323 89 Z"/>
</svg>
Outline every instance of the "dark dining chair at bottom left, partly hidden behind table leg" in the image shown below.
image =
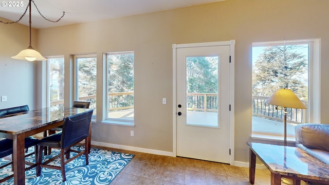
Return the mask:
<svg viewBox="0 0 329 185">
<path fill-rule="evenodd" d="M 31 146 L 34 146 L 34 151 L 31 152 L 31 153 L 27 153 L 25 155 L 25 157 L 28 157 L 28 156 L 31 156 L 34 154 L 34 161 L 35 163 L 31 163 L 31 162 L 28 162 L 28 161 L 25 161 L 25 164 L 29 165 L 29 167 L 25 168 L 25 171 L 26 170 L 30 170 L 31 168 L 34 168 L 36 166 L 38 166 L 38 144 L 39 140 L 38 139 L 35 139 L 34 137 L 32 136 L 29 136 L 27 138 L 25 138 L 25 149 L 28 149 L 29 147 Z M 9 155 L 12 155 L 13 154 L 13 147 L 12 147 L 12 144 L 13 144 L 13 140 L 11 139 L 3 139 L 3 140 L 0 140 L 0 158 L 4 158 L 4 157 L 7 157 Z M 13 160 L 12 160 L 12 157 L 11 157 L 11 161 L 9 161 L 8 163 L 0 166 L 0 169 L 3 169 L 5 167 L 7 167 L 8 165 L 12 165 L 13 163 Z M 11 169 L 12 169 L 12 166 L 11 166 Z M 0 179 L 0 183 L 12 178 L 14 175 L 11 174 L 9 176 L 6 176 L 5 178 L 2 178 Z"/>
</svg>

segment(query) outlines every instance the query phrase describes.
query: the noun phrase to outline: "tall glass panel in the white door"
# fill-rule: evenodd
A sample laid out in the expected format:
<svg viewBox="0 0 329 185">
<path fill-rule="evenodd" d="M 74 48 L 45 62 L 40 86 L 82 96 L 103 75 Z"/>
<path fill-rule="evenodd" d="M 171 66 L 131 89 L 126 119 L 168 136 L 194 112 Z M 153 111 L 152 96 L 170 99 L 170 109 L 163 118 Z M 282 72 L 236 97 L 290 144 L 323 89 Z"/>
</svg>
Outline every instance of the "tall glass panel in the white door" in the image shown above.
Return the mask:
<svg viewBox="0 0 329 185">
<path fill-rule="evenodd" d="M 187 125 L 218 127 L 218 56 L 186 58 Z"/>
</svg>

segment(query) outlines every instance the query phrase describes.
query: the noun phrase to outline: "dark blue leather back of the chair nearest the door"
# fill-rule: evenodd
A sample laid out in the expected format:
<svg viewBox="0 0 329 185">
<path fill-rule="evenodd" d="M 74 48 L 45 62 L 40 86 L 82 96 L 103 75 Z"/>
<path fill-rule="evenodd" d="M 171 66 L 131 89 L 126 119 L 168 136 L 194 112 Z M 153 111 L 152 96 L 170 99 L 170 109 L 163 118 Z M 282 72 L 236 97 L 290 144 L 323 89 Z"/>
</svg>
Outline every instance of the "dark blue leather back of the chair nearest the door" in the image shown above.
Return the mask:
<svg viewBox="0 0 329 185">
<path fill-rule="evenodd" d="M 94 109 L 91 109 L 77 115 L 68 116 L 64 119 L 61 149 L 76 144 L 88 136 L 93 112 Z"/>
</svg>

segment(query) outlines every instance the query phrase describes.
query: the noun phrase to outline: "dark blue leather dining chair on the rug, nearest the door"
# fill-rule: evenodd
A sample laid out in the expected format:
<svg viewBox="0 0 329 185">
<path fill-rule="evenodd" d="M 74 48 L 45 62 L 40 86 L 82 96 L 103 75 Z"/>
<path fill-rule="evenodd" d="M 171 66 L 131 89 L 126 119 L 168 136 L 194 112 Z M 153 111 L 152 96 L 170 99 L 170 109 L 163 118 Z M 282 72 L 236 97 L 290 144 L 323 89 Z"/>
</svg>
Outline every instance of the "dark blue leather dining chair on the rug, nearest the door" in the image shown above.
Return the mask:
<svg viewBox="0 0 329 185">
<path fill-rule="evenodd" d="M 90 122 L 92 121 L 93 112 L 94 110 L 91 109 L 77 115 L 66 117 L 64 119 L 62 131 L 47 136 L 40 140 L 40 142 L 38 143 L 39 154 L 38 154 L 38 167 L 36 167 L 37 168 L 36 176 L 41 175 L 41 167 L 57 169 L 57 170 L 61 170 L 62 178 L 64 182 L 66 181 L 65 164 L 67 164 L 68 162 L 76 159 L 77 157 L 83 154 L 85 155 L 86 165 L 88 165 L 89 161 L 88 161 L 87 151 L 89 150 L 89 145 L 87 144 L 87 140 L 89 138 L 89 126 L 90 126 Z M 77 151 L 71 149 L 71 146 L 74 146 L 83 140 L 85 140 L 84 142 L 85 149 L 83 151 Z M 59 149 L 60 154 L 43 162 L 42 150 L 45 146 Z M 70 156 L 69 155 L 70 152 L 75 152 L 77 153 L 77 155 Z M 49 164 L 51 161 L 59 157 L 61 160 L 60 167 L 58 165 Z M 65 160 L 65 158 L 67 160 Z"/>
</svg>

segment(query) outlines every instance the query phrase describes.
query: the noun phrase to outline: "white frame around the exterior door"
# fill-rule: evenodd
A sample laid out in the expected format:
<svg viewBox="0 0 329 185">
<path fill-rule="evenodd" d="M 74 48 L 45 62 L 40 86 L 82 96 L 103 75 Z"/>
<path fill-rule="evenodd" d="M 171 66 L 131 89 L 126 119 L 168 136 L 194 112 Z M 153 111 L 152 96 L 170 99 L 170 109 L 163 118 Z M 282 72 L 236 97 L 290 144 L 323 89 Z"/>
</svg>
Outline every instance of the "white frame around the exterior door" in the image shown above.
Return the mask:
<svg viewBox="0 0 329 185">
<path fill-rule="evenodd" d="M 177 156 L 177 120 L 176 120 L 176 90 L 177 90 L 177 61 L 176 49 L 206 46 L 230 46 L 230 164 L 234 165 L 234 45 L 235 40 L 221 42 L 173 44 L 173 157 Z"/>
</svg>

